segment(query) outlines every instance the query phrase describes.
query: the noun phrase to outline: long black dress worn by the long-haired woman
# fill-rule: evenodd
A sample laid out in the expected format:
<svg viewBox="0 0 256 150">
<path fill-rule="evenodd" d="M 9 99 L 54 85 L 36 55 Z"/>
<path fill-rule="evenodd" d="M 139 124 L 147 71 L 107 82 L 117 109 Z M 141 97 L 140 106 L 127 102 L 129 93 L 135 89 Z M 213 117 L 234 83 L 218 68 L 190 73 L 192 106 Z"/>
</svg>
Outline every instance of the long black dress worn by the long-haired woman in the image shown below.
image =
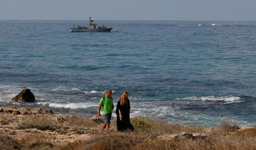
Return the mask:
<svg viewBox="0 0 256 150">
<path fill-rule="evenodd" d="M 129 100 L 126 104 L 120 105 L 120 102 L 117 102 L 117 130 L 123 131 L 126 129 L 134 130 L 134 127 L 131 124 L 130 118 L 129 118 L 129 112 L 130 112 L 130 103 Z M 120 120 L 119 110 L 122 114 L 122 120 Z"/>
</svg>

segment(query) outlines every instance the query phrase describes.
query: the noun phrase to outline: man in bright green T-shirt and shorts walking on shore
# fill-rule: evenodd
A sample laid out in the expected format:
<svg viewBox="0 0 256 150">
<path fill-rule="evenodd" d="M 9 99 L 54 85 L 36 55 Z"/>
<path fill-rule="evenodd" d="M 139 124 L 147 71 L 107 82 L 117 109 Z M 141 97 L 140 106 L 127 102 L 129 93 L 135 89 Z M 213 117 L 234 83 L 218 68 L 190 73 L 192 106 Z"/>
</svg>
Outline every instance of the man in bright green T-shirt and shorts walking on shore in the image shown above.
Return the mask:
<svg viewBox="0 0 256 150">
<path fill-rule="evenodd" d="M 110 119 L 112 116 L 112 110 L 114 110 L 113 98 L 111 97 L 112 91 L 108 89 L 105 93 L 105 97 L 100 99 L 98 106 L 97 117 L 100 117 L 100 110 L 102 108 L 102 115 L 104 119 L 104 125 L 100 132 L 103 132 L 103 129 L 110 130 Z"/>
</svg>

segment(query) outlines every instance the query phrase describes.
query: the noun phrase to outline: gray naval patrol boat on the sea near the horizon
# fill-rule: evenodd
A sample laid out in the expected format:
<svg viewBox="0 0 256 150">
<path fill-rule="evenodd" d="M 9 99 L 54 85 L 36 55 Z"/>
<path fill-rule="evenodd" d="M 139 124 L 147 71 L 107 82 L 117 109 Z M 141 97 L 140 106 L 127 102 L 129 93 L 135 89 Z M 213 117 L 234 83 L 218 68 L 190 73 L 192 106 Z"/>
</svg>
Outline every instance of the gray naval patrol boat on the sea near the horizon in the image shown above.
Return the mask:
<svg viewBox="0 0 256 150">
<path fill-rule="evenodd" d="M 102 32 L 102 33 L 109 33 L 112 30 L 112 28 L 107 28 L 105 25 L 97 25 L 95 21 L 92 21 L 92 19 L 89 19 L 89 27 L 85 26 L 75 26 L 70 27 L 71 33 L 77 33 L 77 32 L 87 32 L 87 33 L 93 33 L 93 32 Z"/>
</svg>

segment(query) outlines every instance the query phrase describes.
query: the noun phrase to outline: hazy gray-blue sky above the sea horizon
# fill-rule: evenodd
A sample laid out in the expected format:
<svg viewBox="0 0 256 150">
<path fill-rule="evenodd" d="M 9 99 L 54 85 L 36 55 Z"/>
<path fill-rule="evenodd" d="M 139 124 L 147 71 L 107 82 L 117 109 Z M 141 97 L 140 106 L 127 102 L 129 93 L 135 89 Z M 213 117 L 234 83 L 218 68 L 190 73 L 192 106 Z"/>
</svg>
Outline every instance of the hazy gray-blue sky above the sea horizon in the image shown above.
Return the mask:
<svg viewBox="0 0 256 150">
<path fill-rule="evenodd" d="M 256 21 L 256 0 L 0 0 L 0 19 Z"/>
</svg>

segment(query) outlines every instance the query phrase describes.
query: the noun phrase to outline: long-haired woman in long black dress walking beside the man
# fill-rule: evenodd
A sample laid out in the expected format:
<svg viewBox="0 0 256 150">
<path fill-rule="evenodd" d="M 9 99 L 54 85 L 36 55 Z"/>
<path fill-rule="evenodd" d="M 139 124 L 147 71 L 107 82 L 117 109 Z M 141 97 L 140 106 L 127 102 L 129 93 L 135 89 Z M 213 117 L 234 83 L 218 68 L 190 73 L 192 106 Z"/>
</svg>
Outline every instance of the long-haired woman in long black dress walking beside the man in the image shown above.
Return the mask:
<svg viewBox="0 0 256 150">
<path fill-rule="evenodd" d="M 124 91 L 122 96 L 119 98 L 117 102 L 117 130 L 124 131 L 126 129 L 134 130 L 130 119 L 129 119 L 129 111 L 130 111 L 130 103 L 128 99 L 128 92 Z"/>
</svg>

